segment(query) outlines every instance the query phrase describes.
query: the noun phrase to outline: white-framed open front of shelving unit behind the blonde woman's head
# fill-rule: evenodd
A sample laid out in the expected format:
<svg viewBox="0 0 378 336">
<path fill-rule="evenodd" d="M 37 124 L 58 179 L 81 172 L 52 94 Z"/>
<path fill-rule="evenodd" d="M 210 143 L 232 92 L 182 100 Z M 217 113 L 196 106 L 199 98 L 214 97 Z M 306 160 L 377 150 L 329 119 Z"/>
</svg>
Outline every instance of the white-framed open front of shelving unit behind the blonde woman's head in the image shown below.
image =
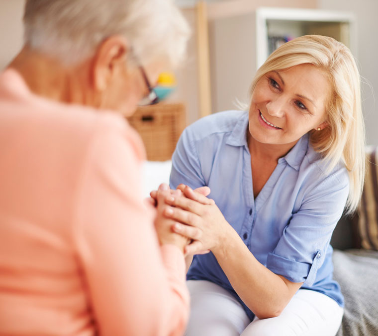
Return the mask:
<svg viewBox="0 0 378 336">
<path fill-rule="evenodd" d="M 261 7 L 256 10 L 256 66 L 269 56 L 268 38 L 272 35 L 299 37 L 307 34 L 325 35 L 343 42 L 357 53 L 356 19 L 351 12 L 320 9 Z"/>
</svg>

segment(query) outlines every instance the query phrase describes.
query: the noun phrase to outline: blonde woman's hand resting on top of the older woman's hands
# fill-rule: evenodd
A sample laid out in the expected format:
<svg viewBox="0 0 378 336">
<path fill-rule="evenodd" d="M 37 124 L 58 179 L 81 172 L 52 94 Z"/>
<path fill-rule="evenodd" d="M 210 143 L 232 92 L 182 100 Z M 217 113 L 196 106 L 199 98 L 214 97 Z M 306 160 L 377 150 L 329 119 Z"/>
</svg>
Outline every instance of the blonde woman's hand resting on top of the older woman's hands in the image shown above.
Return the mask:
<svg viewBox="0 0 378 336">
<path fill-rule="evenodd" d="M 205 250 L 215 253 L 217 249 L 224 248 L 224 242 L 232 227 L 215 202 L 194 193 L 188 186 L 182 191 L 185 197 L 166 197 L 165 202 L 171 206 L 165 209 L 164 214 L 177 221 L 172 228 L 174 232 L 193 240 L 186 246 L 185 253 L 196 254 Z M 205 198 L 207 202 L 201 198 Z"/>
</svg>

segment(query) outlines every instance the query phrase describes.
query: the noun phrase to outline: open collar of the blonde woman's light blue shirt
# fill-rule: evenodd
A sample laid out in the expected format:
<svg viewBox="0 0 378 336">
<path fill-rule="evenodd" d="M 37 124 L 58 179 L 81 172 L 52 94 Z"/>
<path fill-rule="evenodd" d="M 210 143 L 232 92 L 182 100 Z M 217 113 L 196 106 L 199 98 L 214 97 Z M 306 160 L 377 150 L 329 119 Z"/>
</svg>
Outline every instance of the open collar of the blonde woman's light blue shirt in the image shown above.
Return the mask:
<svg viewBox="0 0 378 336">
<path fill-rule="evenodd" d="M 243 113 L 240 116 L 226 143 L 231 146 L 246 146 L 248 148 L 247 132 L 248 112 Z M 289 152 L 278 160 L 278 162 L 281 163 L 284 160 L 290 167 L 299 170 L 299 166 L 307 153 L 308 141 L 309 135 L 304 134 Z"/>
</svg>

